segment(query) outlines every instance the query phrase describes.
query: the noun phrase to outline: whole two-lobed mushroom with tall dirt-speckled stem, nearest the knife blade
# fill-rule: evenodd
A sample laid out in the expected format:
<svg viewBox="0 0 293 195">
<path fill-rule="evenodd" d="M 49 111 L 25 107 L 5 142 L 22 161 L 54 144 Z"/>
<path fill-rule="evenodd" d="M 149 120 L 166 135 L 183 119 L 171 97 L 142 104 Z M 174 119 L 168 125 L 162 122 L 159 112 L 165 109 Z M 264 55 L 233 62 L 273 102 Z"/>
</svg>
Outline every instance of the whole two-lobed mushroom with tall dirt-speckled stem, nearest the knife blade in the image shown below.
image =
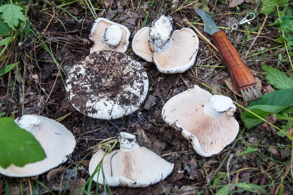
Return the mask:
<svg viewBox="0 0 293 195">
<path fill-rule="evenodd" d="M 161 15 L 135 34 L 132 49 L 147 62 L 154 62 L 161 73 L 170 74 L 183 73 L 194 64 L 198 44 L 193 30 L 173 31 L 172 18 Z"/>
</svg>

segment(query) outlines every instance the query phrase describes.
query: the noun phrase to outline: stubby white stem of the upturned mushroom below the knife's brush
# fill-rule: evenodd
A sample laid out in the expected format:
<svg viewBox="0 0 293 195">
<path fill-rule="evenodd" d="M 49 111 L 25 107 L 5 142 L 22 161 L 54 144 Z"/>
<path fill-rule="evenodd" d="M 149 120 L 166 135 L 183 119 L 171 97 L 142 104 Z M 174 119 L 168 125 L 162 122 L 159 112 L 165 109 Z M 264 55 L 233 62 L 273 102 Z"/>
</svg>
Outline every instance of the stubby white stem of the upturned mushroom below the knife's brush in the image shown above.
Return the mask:
<svg viewBox="0 0 293 195">
<path fill-rule="evenodd" d="M 214 95 L 205 104 L 205 113 L 214 118 L 221 117 L 225 112 L 231 117 L 236 110 L 236 106 L 230 97 Z"/>
</svg>

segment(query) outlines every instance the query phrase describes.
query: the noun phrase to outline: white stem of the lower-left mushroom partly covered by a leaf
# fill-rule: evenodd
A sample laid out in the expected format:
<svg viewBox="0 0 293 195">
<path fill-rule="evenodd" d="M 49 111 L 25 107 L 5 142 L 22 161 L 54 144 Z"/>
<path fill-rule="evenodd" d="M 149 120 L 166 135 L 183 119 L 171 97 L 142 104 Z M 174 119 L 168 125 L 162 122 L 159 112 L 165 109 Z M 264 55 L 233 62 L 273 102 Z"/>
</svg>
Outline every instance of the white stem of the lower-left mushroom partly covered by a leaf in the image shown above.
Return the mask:
<svg viewBox="0 0 293 195">
<path fill-rule="evenodd" d="M 22 129 L 36 135 L 40 128 L 40 119 L 33 115 L 23 115 L 14 120 Z"/>
</svg>

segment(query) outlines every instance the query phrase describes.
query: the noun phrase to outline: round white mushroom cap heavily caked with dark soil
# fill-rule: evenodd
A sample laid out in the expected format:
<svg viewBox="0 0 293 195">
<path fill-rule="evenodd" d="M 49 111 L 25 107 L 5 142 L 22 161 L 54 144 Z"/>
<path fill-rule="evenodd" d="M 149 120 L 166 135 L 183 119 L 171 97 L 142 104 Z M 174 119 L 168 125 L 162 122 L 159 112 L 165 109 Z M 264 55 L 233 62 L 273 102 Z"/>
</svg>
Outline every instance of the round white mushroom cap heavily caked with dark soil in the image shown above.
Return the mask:
<svg viewBox="0 0 293 195">
<path fill-rule="evenodd" d="M 78 111 L 97 119 L 117 119 L 139 109 L 148 79 L 142 65 L 131 57 L 97 51 L 72 67 L 65 90 Z"/>
</svg>

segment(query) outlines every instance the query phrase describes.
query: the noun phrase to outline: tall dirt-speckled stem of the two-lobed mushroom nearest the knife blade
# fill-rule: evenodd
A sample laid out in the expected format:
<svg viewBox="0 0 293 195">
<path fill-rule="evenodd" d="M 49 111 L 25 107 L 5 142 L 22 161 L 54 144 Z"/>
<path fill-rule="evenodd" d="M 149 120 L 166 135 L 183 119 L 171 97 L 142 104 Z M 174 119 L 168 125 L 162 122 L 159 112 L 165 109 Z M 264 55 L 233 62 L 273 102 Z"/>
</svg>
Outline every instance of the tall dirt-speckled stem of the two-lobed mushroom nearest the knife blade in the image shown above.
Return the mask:
<svg viewBox="0 0 293 195">
<path fill-rule="evenodd" d="M 149 45 L 155 52 L 162 53 L 172 46 L 173 19 L 170 16 L 161 15 L 152 22 L 149 28 Z"/>
</svg>

